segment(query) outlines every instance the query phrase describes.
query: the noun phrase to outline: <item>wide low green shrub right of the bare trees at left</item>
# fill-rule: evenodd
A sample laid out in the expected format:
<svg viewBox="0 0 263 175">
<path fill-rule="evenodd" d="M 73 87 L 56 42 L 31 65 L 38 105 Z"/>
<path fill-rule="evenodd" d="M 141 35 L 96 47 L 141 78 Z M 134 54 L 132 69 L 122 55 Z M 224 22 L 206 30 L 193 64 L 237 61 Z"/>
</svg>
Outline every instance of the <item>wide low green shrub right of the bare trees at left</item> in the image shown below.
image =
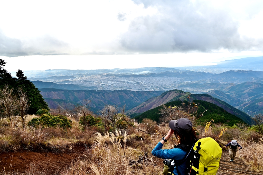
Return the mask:
<svg viewBox="0 0 263 175">
<path fill-rule="evenodd" d="M 28 125 L 33 127 L 37 127 L 38 125 L 42 125 L 43 128 L 46 127 L 56 127 L 59 125 L 61 128 L 71 128 L 71 120 L 68 120 L 67 117 L 59 115 L 59 116 L 52 116 L 51 114 L 43 114 L 39 118 L 33 118 L 31 121 L 28 122 Z"/>
</svg>

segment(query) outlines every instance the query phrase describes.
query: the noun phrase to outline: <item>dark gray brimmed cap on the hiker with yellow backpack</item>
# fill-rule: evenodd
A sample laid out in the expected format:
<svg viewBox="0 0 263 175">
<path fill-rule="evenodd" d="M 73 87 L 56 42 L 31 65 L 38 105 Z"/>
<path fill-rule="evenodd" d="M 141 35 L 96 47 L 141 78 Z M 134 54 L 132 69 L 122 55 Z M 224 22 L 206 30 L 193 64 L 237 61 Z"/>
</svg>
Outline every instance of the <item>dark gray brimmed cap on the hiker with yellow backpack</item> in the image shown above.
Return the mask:
<svg viewBox="0 0 263 175">
<path fill-rule="evenodd" d="M 192 130 L 192 122 L 187 118 L 179 118 L 178 120 L 171 120 L 169 127 L 181 135 L 188 135 Z"/>
</svg>

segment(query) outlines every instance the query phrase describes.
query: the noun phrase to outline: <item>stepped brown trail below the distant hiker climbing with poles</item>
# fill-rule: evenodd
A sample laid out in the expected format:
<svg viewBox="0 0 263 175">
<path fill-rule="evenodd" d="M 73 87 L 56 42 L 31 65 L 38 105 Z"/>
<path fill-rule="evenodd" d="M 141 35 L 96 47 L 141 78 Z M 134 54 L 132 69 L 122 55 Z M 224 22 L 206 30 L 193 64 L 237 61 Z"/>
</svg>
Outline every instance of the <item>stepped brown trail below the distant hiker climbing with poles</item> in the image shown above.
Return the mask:
<svg viewBox="0 0 263 175">
<path fill-rule="evenodd" d="M 263 175 L 263 172 L 252 170 L 250 165 L 246 165 L 243 160 L 239 159 L 239 156 L 235 157 L 235 160 L 233 163 L 230 163 L 230 157 L 228 155 L 228 152 L 226 151 L 226 158 L 225 158 L 225 151 L 223 150 L 222 156 L 220 159 L 220 166 L 219 166 L 217 174 L 218 175 L 262 174 Z"/>
</svg>

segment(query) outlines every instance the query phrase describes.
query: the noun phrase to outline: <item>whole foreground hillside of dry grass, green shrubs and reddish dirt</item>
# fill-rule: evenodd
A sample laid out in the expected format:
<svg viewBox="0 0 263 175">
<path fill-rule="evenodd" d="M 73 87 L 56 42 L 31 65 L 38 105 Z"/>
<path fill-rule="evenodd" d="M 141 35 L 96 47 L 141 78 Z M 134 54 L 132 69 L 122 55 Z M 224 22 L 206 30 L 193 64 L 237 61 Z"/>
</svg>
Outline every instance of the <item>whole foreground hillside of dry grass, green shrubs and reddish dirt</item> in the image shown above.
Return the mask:
<svg viewBox="0 0 263 175">
<path fill-rule="evenodd" d="M 200 109 L 208 108 L 210 114 L 224 114 L 226 120 L 231 117 L 231 114 L 212 103 L 198 100 L 195 102 Z M 184 103 L 175 101 L 170 104 L 187 106 L 187 103 Z M 211 123 L 206 125 L 205 129 L 203 124 L 196 122 L 196 115 L 185 113 L 180 108 L 176 108 L 176 111 L 182 114 L 181 117 L 192 121 L 199 139 L 211 137 L 223 148 L 229 140 L 236 138 L 245 149 L 241 151 L 241 158 L 254 169 L 251 171 L 255 174 L 262 171 L 263 159 L 259 156 L 263 154 L 262 130 L 257 130 L 256 126 L 248 127 L 242 122 L 237 123 L 238 127 Z M 50 114 L 47 110 L 40 110 L 38 114 L 41 116 L 29 116 L 26 127 L 21 127 L 20 117 L 15 125 L 6 120 L 0 121 L 0 161 L 3 165 L 1 174 L 160 175 L 163 171 L 163 160 L 154 157 L 150 152 L 167 134 L 167 122 L 157 125 L 151 119 L 143 119 L 138 123 L 119 113 L 114 106 L 105 106 L 100 115 L 87 109 L 85 114 L 66 111 Z M 212 115 L 207 116 L 209 117 Z M 200 119 L 204 122 L 211 120 L 202 117 Z M 56 125 L 55 122 L 59 124 Z M 176 144 L 178 141 L 173 136 L 163 149 L 171 149 Z"/>
</svg>

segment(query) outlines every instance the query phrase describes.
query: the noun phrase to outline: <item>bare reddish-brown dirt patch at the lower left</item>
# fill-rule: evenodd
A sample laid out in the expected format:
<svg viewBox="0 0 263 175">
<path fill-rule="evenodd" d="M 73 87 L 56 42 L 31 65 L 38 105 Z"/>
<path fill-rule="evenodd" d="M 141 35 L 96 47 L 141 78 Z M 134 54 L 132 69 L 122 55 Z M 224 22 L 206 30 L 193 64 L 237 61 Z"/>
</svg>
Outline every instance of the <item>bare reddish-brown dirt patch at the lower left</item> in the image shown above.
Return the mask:
<svg viewBox="0 0 263 175">
<path fill-rule="evenodd" d="M 47 152 L 2 152 L 0 153 L 0 172 L 5 169 L 8 171 L 23 172 L 33 166 L 39 169 L 48 169 L 49 172 L 59 171 L 60 168 L 70 165 L 74 159 L 78 158 L 79 154 L 53 154 Z M 12 166 L 11 166 L 12 165 Z"/>
</svg>

